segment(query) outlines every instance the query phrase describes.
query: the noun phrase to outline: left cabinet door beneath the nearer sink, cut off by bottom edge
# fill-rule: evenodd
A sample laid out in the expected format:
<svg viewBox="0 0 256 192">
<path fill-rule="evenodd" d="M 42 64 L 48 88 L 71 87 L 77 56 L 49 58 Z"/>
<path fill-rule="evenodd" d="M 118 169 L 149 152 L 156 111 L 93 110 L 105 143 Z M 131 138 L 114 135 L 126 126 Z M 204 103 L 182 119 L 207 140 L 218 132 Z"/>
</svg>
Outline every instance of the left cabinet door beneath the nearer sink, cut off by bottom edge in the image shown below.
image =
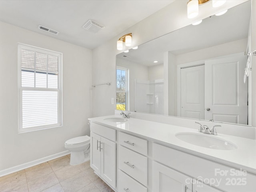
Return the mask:
<svg viewBox="0 0 256 192">
<path fill-rule="evenodd" d="M 153 161 L 153 192 L 192 192 L 192 178 Z"/>
</svg>

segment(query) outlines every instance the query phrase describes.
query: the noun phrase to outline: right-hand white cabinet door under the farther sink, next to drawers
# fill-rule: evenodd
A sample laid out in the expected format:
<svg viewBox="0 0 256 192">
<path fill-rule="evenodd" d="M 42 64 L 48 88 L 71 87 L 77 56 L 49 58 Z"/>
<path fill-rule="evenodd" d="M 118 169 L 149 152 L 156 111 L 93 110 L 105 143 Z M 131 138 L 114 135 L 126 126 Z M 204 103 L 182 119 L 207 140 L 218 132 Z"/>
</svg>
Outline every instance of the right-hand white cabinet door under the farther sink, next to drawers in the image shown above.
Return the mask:
<svg viewBox="0 0 256 192">
<path fill-rule="evenodd" d="M 116 143 L 101 138 L 101 176 L 112 187 L 116 186 Z"/>
</svg>

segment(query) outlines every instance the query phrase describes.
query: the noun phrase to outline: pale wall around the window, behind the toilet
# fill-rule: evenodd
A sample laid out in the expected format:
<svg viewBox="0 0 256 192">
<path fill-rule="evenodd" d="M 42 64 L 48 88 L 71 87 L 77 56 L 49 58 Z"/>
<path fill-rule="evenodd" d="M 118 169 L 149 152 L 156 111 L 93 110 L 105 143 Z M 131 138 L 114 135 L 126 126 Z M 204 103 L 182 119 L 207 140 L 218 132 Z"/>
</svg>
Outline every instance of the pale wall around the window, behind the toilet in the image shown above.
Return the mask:
<svg viewBox="0 0 256 192">
<path fill-rule="evenodd" d="M 62 52 L 62 127 L 18 134 L 18 42 Z M 0 22 L 0 66 L 0 171 L 63 152 L 67 139 L 90 134 L 91 50 Z"/>
</svg>

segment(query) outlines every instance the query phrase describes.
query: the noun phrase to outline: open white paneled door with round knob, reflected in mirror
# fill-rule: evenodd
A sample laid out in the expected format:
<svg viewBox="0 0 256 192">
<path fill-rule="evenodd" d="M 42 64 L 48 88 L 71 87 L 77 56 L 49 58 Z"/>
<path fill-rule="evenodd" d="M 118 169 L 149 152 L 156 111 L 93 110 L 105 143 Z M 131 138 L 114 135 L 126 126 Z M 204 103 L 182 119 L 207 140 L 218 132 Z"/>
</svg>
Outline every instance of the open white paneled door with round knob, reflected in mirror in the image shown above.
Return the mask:
<svg viewBox="0 0 256 192">
<path fill-rule="evenodd" d="M 205 61 L 205 119 L 247 124 L 247 56 Z"/>
</svg>

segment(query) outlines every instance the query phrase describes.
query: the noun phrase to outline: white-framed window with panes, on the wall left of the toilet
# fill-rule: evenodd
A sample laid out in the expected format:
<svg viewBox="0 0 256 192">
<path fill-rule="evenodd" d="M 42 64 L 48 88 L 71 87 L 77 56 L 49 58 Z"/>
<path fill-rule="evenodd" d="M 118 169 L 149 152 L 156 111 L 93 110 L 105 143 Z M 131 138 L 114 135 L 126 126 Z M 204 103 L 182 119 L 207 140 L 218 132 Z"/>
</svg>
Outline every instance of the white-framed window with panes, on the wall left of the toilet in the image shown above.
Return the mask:
<svg viewBox="0 0 256 192">
<path fill-rule="evenodd" d="M 61 53 L 18 44 L 18 132 L 62 125 L 61 66 Z"/>
</svg>

